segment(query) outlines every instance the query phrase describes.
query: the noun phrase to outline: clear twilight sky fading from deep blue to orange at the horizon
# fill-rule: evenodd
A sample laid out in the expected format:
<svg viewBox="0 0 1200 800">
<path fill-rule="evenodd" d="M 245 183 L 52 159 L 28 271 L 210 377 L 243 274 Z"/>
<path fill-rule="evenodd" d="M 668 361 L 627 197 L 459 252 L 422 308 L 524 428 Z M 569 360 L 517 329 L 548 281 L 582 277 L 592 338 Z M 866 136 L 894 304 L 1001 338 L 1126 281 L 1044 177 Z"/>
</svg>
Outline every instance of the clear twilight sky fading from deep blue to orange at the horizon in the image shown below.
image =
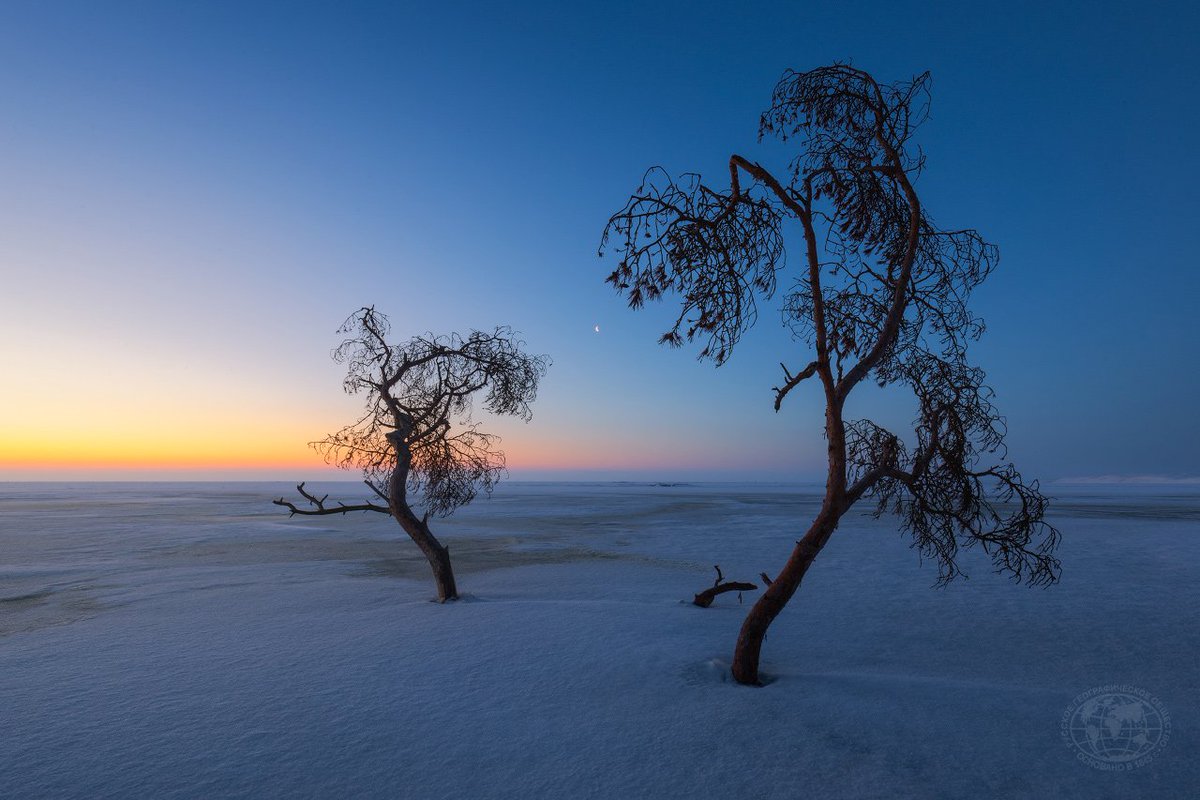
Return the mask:
<svg viewBox="0 0 1200 800">
<path fill-rule="evenodd" d="M 1184 2 L 5 4 L 0 479 L 328 475 L 305 443 L 353 419 L 329 350 L 372 303 L 553 357 L 496 426 L 514 477 L 816 477 L 776 314 L 714 369 L 595 249 L 652 164 L 778 163 L 779 74 L 846 59 L 932 72 L 918 188 L 1001 247 L 973 359 L 1010 457 L 1200 475 L 1196 41 Z"/>
</svg>

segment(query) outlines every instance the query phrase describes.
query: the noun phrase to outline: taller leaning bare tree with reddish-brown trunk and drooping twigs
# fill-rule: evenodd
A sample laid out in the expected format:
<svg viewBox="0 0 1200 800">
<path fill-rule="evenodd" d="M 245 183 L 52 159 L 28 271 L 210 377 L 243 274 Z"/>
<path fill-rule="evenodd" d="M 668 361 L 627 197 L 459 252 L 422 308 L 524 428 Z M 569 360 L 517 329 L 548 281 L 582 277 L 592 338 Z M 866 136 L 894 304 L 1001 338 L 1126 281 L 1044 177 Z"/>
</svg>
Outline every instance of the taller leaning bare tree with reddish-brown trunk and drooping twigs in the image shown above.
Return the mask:
<svg viewBox="0 0 1200 800">
<path fill-rule="evenodd" d="M 724 190 L 650 169 L 605 229 L 600 254 L 619 258 L 608 283 L 635 308 L 679 295 L 683 308 L 661 341 L 698 339 L 700 357 L 718 366 L 755 323 L 756 301 L 785 277 L 785 224 L 803 233 L 782 312 L 811 360 L 782 368 L 774 407 L 802 381 L 820 384 L 824 503 L 742 626 L 733 657 L 742 684 L 758 682 L 767 627 L 860 499 L 874 501 L 875 516 L 899 515 L 914 547 L 938 563 L 941 584 L 959 575 L 959 549 L 971 545 L 1018 581 L 1057 579 L 1046 499 L 1037 481 L 1002 463 L 1003 420 L 983 371 L 966 359 L 983 332 L 967 300 L 997 251 L 974 230 L 937 228 L 913 186 L 924 155 L 912 137 L 928 102 L 928 73 L 884 85 L 842 64 L 788 71 L 758 133 L 798 145 L 784 172 L 734 155 Z M 866 378 L 912 390 L 919 410 L 907 440 L 842 417 Z"/>
</svg>

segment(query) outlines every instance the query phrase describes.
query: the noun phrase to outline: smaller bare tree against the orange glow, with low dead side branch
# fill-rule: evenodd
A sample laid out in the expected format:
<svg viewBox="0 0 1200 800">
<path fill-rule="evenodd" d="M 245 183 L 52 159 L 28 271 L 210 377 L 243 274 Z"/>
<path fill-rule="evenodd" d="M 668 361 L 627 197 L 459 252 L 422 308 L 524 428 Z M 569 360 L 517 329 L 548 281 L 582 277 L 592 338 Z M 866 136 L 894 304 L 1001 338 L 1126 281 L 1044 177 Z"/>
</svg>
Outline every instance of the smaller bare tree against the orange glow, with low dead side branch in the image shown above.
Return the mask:
<svg viewBox="0 0 1200 800">
<path fill-rule="evenodd" d="M 337 332 L 347 338 L 334 360 L 347 366 L 346 391 L 365 395 L 365 413 L 313 446 L 326 462 L 361 470 L 374 497 L 330 505 L 328 495 L 317 497 L 300 483 L 304 506 L 283 498 L 275 505 L 293 515 L 390 515 L 428 560 L 438 600 L 455 600 L 450 549 L 430 530 L 430 517 L 449 516 L 480 489 L 491 493 L 504 471 L 498 437 L 472 421 L 474 397 L 486 391 L 487 411 L 529 420 L 550 360 L 524 353 L 524 343 L 508 327 L 389 344 L 388 318 L 373 307 L 360 308 Z"/>
</svg>

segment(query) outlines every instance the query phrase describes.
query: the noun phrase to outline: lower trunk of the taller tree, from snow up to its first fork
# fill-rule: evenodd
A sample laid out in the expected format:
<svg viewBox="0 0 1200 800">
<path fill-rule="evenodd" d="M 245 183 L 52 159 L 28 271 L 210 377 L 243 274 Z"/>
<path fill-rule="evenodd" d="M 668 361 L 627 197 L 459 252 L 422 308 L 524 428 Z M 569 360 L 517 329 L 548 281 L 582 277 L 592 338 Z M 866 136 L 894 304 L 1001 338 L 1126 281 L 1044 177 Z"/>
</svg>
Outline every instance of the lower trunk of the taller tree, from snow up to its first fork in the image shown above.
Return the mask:
<svg viewBox="0 0 1200 800">
<path fill-rule="evenodd" d="M 775 621 L 784 606 L 792 599 L 796 590 L 800 588 L 804 573 L 809 571 L 812 559 L 817 557 L 821 548 L 829 541 L 829 536 L 838 528 L 841 515 L 833 509 L 829 499 L 826 499 L 821 513 L 812 522 L 812 527 L 804 535 L 804 539 L 796 542 L 791 558 L 784 565 L 784 570 L 770 582 L 767 590 L 762 593 L 746 619 L 742 622 L 738 632 L 738 643 L 733 650 L 733 680 L 739 684 L 752 686 L 761 685 L 758 680 L 758 656 L 762 651 L 762 640 L 767 636 L 767 628 Z"/>
</svg>

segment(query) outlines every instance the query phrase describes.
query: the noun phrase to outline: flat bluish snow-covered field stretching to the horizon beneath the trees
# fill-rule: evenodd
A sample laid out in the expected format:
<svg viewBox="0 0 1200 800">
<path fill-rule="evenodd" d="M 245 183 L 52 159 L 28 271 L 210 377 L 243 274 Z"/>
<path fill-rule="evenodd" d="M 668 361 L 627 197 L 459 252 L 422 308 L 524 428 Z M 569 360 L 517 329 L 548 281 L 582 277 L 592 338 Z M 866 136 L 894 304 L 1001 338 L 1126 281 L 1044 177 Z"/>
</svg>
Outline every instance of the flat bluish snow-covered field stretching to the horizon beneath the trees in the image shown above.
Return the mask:
<svg viewBox="0 0 1200 800">
<path fill-rule="evenodd" d="M 1050 589 L 977 554 L 931 589 L 851 516 L 762 688 L 727 680 L 746 606 L 686 601 L 775 572 L 815 489 L 510 482 L 436 524 L 446 606 L 388 518 L 288 489 L 0 485 L 0 798 L 1200 796 L 1194 487 L 1050 487 Z M 1111 685 L 1171 724 L 1123 771 L 1061 732 Z"/>
</svg>

